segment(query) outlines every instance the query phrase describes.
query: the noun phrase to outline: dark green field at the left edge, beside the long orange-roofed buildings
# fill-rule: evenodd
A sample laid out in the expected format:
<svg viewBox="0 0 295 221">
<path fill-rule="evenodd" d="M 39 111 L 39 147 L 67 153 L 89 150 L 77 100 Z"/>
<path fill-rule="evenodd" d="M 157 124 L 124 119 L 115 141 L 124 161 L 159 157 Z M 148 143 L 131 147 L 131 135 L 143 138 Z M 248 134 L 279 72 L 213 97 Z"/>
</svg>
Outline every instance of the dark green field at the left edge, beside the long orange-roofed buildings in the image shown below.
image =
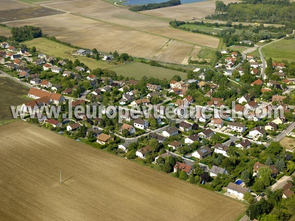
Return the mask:
<svg viewBox="0 0 295 221">
<path fill-rule="evenodd" d="M 9 78 L 0 77 L 0 125 L 13 119 L 10 105 L 22 105 L 30 100 L 26 97 L 28 91 L 28 87 Z"/>
</svg>

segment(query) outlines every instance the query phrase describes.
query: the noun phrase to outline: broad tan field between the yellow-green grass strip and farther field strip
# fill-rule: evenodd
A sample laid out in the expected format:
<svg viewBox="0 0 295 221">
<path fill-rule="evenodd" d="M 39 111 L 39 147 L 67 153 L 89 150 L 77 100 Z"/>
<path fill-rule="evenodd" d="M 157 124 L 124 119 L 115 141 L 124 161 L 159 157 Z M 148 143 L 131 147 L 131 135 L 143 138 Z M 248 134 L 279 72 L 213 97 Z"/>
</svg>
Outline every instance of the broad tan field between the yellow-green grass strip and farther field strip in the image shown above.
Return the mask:
<svg viewBox="0 0 295 221">
<path fill-rule="evenodd" d="M 96 48 L 103 52 L 128 53 L 132 56 L 153 59 L 166 44 L 167 38 L 154 36 L 137 30 L 130 30 L 71 14 L 62 14 L 53 17 L 31 19 L 26 21 L 11 22 L 7 25 L 24 26 L 32 25 L 42 28 L 43 33 L 56 36 L 59 40 L 69 42 L 82 48 Z M 130 37 L 132 36 L 132 37 Z M 175 63 L 181 63 L 189 53 L 191 44 L 180 42 L 186 51 L 175 51 Z M 170 47 L 170 46 L 168 46 Z M 173 46 L 172 46 L 173 47 Z M 177 46 L 178 47 L 178 46 Z M 171 49 L 173 51 L 173 49 Z M 168 57 L 171 54 L 163 54 Z"/>
</svg>

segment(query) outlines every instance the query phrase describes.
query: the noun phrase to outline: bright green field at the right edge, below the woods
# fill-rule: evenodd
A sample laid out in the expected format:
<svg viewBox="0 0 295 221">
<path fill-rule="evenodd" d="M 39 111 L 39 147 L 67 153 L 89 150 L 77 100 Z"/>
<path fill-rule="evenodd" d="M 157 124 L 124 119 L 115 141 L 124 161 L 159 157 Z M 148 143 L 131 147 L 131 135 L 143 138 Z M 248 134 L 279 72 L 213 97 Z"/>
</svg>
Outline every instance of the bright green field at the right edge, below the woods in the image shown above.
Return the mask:
<svg viewBox="0 0 295 221">
<path fill-rule="evenodd" d="M 266 58 L 271 57 L 273 61 L 286 59 L 290 62 L 295 61 L 295 38 L 283 39 L 267 45 L 262 49 Z"/>
</svg>

